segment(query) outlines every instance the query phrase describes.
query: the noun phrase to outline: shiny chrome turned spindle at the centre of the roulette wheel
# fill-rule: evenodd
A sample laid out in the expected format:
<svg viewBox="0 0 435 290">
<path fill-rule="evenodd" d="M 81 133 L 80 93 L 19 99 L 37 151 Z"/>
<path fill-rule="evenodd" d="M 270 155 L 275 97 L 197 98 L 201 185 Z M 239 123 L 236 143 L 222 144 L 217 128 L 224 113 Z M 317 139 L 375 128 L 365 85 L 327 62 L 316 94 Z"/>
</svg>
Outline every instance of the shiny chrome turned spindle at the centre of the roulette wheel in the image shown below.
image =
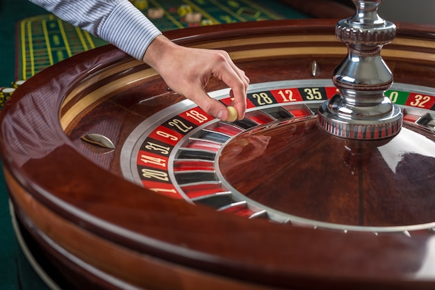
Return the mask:
<svg viewBox="0 0 435 290">
<path fill-rule="evenodd" d="M 400 131 L 402 112 L 384 95 L 393 74 L 381 48 L 395 38 L 396 26 L 377 15 L 381 0 L 354 3 L 356 14 L 336 24 L 336 37 L 348 54 L 334 70 L 339 93 L 319 108 L 320 126 L 343 138 L 388 138 Z"/>
</svg>

